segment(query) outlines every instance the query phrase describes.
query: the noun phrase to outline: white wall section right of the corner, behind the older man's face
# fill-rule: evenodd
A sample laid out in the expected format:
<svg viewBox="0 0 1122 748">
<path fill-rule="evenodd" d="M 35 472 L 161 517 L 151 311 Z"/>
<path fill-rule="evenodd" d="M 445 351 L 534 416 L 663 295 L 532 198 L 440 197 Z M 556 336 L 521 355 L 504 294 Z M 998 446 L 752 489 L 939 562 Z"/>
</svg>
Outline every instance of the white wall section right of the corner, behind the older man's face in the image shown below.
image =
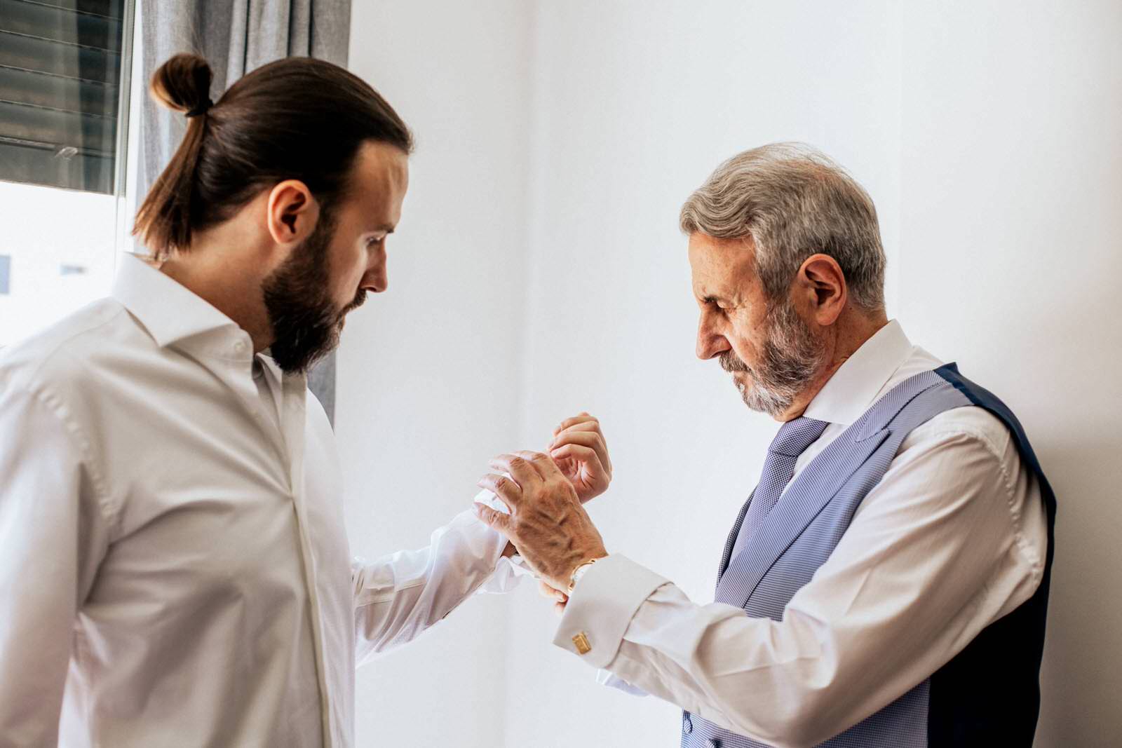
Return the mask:
<svg viewBox="0 0 1122 748">
<path fill-rule="evenodd" d="M 899 18 L 889 3 L 539 8 L 524 425 L 600 416 L 615 483 L 590 511 L 608 550 L 708 602 L 775 426 L 693 354 L 678 210 L 728 156 L 807 140 L 870 190 L 895 262 Z M 596 685 L 532 598 L 511 630 L 506 745 L 677 746 L 680 711 Z"/>
</svg>

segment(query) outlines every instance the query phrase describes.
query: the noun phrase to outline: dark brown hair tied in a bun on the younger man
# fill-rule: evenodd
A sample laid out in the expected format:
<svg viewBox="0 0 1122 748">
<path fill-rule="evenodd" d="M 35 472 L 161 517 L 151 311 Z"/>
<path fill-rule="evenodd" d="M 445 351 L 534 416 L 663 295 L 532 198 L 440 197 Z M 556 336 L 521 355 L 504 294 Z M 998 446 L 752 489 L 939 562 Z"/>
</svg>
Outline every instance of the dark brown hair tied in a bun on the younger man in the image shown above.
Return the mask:
<svg viewBox="0 0 1122 748">
<path fill-rule="evenodd" d="M 300 179 L 330 219 L 359 147 L 388 142 L 408 154 L 413 136 L 365 81 L 311 57 L 286 57 L 247 74 L 210 103 L 210 65 L 175 55 L 151 77 L 151 95 L 187 114 L 187 131 L 137 212 L 132 233 L 151 253 L 186 249 L 196 231 L 231 218 L 255 195 Z"/>
</svg>

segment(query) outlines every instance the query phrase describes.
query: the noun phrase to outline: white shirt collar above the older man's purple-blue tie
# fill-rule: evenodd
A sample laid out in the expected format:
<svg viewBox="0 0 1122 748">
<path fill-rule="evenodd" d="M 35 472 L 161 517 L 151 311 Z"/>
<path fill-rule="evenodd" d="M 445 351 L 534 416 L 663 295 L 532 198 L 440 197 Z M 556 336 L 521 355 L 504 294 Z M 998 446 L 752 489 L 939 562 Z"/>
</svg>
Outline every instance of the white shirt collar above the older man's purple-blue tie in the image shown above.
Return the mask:
<svg viewBox="0 0 1122 748">
<path fill-rule="evenodd" d="M 849 425 L 873 405 L 876 395 L 914 350 L 900 323 L 889 322 L 834 372 L 802 415 Z"/>
</svg>

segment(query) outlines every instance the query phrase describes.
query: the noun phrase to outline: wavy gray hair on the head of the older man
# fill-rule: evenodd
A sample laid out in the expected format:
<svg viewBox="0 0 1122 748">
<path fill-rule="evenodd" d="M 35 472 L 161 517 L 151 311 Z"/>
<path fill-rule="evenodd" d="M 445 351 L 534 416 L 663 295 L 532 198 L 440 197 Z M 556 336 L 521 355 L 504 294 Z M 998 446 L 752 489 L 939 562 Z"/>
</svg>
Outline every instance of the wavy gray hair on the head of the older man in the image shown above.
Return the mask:
<svg viewBox="0 0 1122 748">
<path fill-rule="evenodd" d="M 717 167 L 682 205 L 684 233 L 751 237 L 756 274 L 771 299 L 785 298 L 803 261 L 833 257 L 849 297 L 865 311 L 884 308 L 884 248 L 868 193 L 821 151 L 774 142 Z"/>
</svg>

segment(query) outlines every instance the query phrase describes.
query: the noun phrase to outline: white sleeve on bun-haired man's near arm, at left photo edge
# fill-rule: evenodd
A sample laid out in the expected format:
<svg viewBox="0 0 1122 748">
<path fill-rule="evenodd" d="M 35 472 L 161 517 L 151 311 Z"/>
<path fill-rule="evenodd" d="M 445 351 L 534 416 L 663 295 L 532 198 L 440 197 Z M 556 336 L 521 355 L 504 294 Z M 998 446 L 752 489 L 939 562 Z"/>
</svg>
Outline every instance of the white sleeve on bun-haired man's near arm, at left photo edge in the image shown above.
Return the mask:
<svg viewBox="0 0 1122 748">
<path fill-rule="evenodd" d="M 2 373 L 2 372 L 0 372 Z M 74 619 L 107 547 L 82 435 L 0 381 L 0 744 L 55 745 Z"/>
</svg>

